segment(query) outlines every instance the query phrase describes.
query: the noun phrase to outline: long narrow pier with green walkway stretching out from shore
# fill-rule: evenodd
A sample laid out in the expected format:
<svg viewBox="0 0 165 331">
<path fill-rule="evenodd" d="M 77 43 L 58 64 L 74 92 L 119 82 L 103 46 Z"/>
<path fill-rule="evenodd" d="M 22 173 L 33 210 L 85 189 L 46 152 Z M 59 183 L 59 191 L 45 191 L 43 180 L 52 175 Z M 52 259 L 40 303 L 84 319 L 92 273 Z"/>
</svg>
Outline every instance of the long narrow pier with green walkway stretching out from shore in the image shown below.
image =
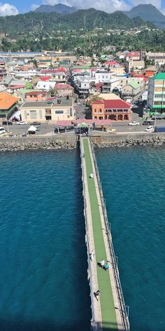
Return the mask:
<svg viewBox="0 0 165 331">
<path fill-rule="evenodd" d="M 92 142 L 80 137 L 82 187 L 88 259 L 88 278 L 92 303 L 91 326 L 94 331 L 129 331 L 129 318 L 124 304 L 122 287 L 112 236 L 103 199 L 99 171 Z M 90 174 L 93 178 L 90 178 Z M 94 251 L 94 259 L 90 254 Z M 109 262 L 105 271 L 99 265 L 101 259 Z M 100 291 L 99 297 L 96 291 Z"/>
</svg>

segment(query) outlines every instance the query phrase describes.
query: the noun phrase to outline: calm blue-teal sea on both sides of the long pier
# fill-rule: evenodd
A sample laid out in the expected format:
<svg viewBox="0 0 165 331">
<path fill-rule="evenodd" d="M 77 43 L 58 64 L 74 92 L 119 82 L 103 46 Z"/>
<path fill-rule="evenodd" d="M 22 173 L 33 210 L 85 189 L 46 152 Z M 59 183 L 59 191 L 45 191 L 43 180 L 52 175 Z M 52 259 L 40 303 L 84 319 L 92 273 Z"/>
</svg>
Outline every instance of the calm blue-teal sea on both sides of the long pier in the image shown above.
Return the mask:
<svg viewBox="0 0 165 331">
<path fill-rule="evenodd" d="M 165 330 L 165 149 L 96 149 L 131 331 Z M 89 331 L 78 151 L 0 154 L 0 330 Z"/>
</svg>

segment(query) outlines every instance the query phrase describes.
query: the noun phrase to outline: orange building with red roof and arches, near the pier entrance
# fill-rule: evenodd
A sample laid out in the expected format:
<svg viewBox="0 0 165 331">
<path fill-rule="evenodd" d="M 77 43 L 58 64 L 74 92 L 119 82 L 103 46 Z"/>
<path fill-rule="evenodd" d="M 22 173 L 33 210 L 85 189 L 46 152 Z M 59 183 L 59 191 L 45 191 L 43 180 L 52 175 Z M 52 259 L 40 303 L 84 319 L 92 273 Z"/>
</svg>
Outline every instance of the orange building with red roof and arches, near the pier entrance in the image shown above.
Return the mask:
<svg viewBox="0 0 165 331">
<path fill-rule="evenodd" d="M 123 100 L 99 100 L 92 102 L 92 119 L 130 121 L 131 105 Z"/>
</svg>

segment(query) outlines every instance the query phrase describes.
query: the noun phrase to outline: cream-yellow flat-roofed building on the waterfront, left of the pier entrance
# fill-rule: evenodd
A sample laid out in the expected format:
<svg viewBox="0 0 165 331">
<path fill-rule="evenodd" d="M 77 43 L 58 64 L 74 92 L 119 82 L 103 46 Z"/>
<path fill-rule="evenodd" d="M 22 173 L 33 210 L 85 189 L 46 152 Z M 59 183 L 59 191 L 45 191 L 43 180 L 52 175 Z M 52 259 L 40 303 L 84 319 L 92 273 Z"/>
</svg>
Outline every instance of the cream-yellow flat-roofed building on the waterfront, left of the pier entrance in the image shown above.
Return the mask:
<svg viewBox="0 0 165 331">
<path fill-rule="evenodd" d="M 22 121 L 57 122 L 76 119 L 73 97 L 52 101 L 25 102 L 20 108 Z"/>
</svg>

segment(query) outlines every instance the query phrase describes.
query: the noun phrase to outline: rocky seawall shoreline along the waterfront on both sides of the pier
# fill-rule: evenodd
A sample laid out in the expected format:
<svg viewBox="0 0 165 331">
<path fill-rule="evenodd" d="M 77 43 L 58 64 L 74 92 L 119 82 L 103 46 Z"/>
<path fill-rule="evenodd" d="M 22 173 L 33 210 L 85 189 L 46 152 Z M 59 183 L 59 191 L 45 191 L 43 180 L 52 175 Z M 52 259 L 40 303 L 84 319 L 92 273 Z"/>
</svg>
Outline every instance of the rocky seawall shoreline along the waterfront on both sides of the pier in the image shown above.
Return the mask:
<svg viewBox="0 0 165 331">
<path fill-rule="evenodd" d="M 130 146 L 164 146 L 165 135 L 95 135 L 92 136 L 94 147 L 130 147 Z M 3 137 L 0 139 L 0 152 L 32 151 L 32 150 L 62 150 L 76 149 L 78 137 L 64 135 L 56 137 Z"/>
</svg>

